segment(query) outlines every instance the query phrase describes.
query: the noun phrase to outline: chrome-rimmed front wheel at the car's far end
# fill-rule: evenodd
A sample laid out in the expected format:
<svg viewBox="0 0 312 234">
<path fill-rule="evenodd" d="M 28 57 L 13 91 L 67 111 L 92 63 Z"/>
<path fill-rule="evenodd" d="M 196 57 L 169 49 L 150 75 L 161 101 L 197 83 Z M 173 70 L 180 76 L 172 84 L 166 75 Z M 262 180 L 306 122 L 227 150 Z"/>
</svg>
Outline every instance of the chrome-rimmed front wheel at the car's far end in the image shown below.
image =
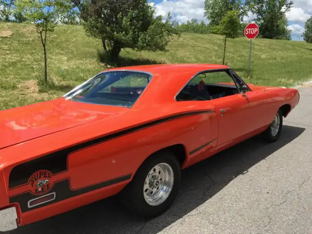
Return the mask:
<svg viewBox="0 0 312 234">
<path fill-rule="evenodd" d="M 264 139 L 267 142 L 274 142 L 278 140 L 283 127 L 283 114 L 281 110 L 278 110 L 272 123 L 264 132 Z"/>
</svg>

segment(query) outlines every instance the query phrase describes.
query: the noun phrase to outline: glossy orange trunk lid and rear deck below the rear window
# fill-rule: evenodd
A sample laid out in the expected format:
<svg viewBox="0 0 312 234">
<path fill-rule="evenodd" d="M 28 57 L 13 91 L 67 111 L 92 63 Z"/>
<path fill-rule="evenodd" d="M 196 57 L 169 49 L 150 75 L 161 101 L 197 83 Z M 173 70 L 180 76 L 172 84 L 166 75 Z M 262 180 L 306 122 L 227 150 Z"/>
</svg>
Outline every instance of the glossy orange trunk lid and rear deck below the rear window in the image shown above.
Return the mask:
<svg viewBox="0 0 312 234">
<path fill-rule="evenodd" d="M 126 108 L 65 98 L 0 111 L 0 149 L 83 124 L 111 118 Z"/>
</svg>

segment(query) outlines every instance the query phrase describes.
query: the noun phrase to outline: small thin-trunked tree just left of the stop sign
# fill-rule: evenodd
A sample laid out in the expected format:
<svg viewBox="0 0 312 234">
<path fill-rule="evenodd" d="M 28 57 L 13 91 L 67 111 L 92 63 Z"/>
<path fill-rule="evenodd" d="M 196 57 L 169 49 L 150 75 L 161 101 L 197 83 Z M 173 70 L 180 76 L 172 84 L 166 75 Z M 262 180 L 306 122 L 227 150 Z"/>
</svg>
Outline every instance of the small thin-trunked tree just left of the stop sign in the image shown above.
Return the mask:
<svg viewBox="0 0 312 234">
<path fill-rule="evenodd" d="M 219 25 L 213 28 L 213 33 L 225 36 L 222 64 L 224 64 L 224 60 L 225 60 L 226 39 L 237 38 L 238 36 L 240 36 L 240 20 L 238 18 L 238 15 L 239 15 L 239 11 L 237 10 L 229 11 L 222 18 Z"/>
</svg>

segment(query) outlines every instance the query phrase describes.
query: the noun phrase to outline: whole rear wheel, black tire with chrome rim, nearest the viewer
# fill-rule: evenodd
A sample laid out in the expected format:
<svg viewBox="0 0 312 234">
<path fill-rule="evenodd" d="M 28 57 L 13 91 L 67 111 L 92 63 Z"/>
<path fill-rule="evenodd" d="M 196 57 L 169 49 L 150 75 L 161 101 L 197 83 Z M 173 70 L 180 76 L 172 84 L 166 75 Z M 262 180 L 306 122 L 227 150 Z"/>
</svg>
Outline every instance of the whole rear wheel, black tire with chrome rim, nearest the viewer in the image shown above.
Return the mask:
<svg viewBox="0 0 312 234">
<path fill-rule="evenodd" d="M 173 203 L 180 187 L 181 165 L 169 151 L 150 156 L 121 191 L 121 203 L 134 215 L 153 218 Z"/>
</svg>

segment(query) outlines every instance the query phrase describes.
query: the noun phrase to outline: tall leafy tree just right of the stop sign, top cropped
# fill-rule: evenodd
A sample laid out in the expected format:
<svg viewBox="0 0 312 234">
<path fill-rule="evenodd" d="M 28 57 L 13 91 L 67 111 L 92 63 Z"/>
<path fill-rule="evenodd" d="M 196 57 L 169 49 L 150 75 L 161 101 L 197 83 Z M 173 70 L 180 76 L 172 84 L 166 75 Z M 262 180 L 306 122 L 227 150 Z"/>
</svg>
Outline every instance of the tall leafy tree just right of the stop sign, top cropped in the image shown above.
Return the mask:
<svg viewBox="0 0 312 234">
<path fill-rule="evenodd" d="M 250 11 L 256 15 L 259 35 L 267 39 L 291 39 L 287 29 L 286 12 L 293 2 L 290 0 L 247 0 Z"/>
</svg>

